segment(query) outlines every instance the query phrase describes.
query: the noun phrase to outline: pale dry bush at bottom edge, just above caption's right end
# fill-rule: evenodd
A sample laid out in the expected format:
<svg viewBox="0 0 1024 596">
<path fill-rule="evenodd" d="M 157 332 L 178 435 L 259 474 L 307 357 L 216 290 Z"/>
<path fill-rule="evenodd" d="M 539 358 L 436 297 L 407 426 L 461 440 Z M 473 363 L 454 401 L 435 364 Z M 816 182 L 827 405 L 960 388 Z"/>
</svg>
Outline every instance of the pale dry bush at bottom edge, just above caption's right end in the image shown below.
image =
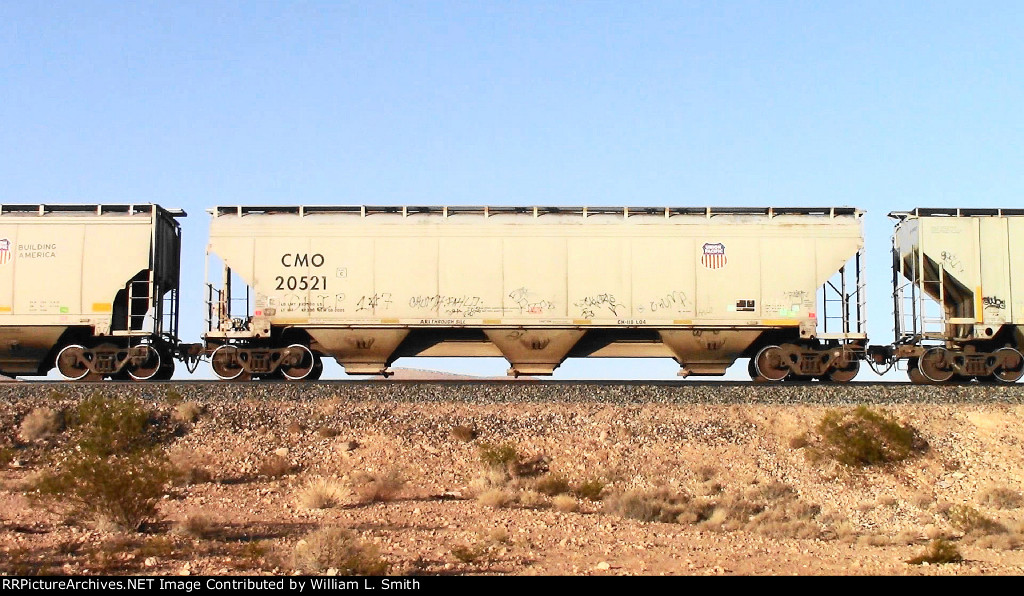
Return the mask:
<svg viewBox="0 0 1024 596">
<path fill-rule="evenodd" d="M 292 564 L 303 573 L 337 576 L 383 576 L 390 567 L 376 548 L 340 527 L 308 534 L 295 546 Z"/>
</svg>

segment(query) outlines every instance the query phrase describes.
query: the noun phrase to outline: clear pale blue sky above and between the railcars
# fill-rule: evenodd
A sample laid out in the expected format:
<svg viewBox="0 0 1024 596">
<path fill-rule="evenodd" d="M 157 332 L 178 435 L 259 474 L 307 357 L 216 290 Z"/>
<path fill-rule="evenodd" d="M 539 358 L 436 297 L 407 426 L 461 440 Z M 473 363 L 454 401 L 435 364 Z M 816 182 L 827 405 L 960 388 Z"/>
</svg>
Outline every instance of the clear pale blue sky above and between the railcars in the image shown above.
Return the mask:
<svg viewBox="0 0 1024 596">
<path fill-rule="evenodd" d="M 885 214 L 1024 207 L 1022 32 L 1022 2 L 0 0 L 0 201 L 186 209 L 191 341 L 213 205 L 851 205 L 888 343 Z"/>
</svg>

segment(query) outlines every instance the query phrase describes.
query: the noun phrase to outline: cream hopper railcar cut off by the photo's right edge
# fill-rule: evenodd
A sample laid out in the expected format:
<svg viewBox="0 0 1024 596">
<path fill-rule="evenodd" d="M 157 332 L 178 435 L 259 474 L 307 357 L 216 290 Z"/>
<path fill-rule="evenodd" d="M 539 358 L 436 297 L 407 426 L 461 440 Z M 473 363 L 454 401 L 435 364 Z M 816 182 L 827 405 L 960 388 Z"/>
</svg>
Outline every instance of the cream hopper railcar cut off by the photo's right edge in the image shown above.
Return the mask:
<svg viewBox="0 0 1024 596">
<path fill-rule="evenodd" d="M 876 360 L 903 361 L 918 383 L 1024 375 L 1024 209 L 914 209 L 889 214 L 895 341 Z"/>
</svg>

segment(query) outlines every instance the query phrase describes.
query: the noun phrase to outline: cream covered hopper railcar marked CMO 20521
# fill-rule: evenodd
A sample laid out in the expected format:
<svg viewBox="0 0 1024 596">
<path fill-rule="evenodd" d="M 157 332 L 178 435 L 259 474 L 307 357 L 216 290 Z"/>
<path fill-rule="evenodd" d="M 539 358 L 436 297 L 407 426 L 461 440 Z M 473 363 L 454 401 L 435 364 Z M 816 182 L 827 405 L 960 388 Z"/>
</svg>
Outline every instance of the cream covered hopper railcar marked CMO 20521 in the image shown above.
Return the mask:
<svg viewBox="0 0 1024 596">
<path fill-rule="evenodd" d="M 322 357 L 751 358 L 849 381 L 867 342 L 853 208 L 217 207 L 205 352 L 222 379 L 312 379 Z"/>
</svg>

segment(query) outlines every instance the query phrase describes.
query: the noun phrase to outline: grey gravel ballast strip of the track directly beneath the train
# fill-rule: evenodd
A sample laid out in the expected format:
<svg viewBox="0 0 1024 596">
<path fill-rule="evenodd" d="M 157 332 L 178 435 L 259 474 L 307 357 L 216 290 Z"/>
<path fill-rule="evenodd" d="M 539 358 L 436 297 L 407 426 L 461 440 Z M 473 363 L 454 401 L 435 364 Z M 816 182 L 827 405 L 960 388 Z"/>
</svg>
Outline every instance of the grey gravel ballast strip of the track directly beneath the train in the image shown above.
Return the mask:
<svg viewBox="0 0 1024 596">
<path fill-rule="evenodd" d="M 307 383 L 166 381 L 148 383 L 4 383 L 0 401 L 78 399 L 94 393 L 141 399 L 328 400 L 467 403 L 1024 403 L 1024 384 L 914 385 L 694 381 L 338 380 Z"/>
</svg>

